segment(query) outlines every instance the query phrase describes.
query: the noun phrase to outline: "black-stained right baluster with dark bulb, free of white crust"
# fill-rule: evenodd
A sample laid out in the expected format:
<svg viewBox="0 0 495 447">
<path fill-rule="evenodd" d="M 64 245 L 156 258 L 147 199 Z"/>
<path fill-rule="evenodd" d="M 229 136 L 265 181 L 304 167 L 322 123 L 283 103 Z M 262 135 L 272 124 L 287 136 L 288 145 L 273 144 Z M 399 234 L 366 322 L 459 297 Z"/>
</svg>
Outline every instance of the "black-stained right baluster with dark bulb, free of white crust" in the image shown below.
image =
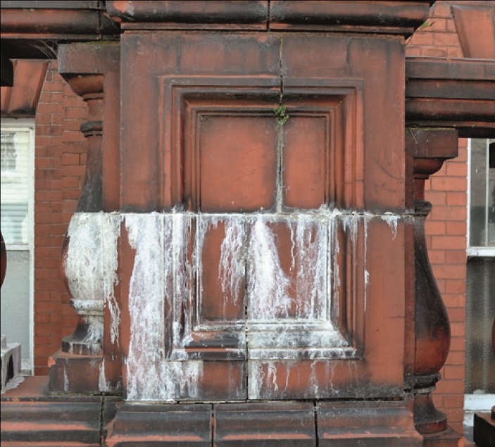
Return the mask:
<svg viewBox="0 0 495 447">
<path fill-rule="evenodd" d="M 447 428 L 446 416 L 432 401 L 450 348 L 449 316 L 434 279 L 425 239 L 432 204 L 425 201 L 425 180 L 458 153 L 458 132 L 451 129 L 406 129 L 406 153 L 413 159 L 415 248 L 414 422 L 421 434 Z"/>
</svg>

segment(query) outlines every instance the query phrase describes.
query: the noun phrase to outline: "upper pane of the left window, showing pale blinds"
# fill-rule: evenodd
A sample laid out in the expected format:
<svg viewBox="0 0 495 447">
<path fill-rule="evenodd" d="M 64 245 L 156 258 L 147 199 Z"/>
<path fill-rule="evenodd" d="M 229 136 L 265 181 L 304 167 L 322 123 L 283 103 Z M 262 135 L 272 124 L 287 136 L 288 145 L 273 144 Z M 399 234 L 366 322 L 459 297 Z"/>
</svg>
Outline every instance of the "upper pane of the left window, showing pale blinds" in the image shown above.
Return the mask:
<svg viewBox="0 0 495 447">
<path fill-rule="evenodd" d="M 1 130 L 1 232 L 6 244 L 28 244 L 30 130 Z"/>
</svg>

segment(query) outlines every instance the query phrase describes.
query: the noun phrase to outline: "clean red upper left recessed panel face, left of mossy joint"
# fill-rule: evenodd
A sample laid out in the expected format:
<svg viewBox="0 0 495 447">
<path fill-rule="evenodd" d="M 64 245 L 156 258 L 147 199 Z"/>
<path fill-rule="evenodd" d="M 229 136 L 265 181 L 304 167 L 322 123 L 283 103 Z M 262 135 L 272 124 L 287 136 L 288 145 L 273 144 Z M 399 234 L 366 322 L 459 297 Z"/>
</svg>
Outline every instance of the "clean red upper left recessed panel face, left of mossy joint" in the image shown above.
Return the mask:
<svg viewBox="0 0 495 447">
<path fill-rule="evenodd" d="M 256 116 L 201 115 L 199 196 L 204 212 L 269 210 L 277 179 L 277 123 Z"/>
</svg>

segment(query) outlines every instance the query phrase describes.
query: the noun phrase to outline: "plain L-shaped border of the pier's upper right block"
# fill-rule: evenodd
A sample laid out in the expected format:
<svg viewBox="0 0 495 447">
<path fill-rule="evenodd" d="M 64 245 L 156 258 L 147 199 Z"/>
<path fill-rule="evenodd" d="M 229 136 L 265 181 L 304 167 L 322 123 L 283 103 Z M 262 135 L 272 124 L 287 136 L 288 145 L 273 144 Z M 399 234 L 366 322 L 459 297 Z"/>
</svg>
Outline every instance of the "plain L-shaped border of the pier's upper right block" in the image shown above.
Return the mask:
<svg viewBox="0 0 495 447">
<path fill-rule="evenodd" d="M 308 82 L 312 78 L 313 88 L 327 87 L 329 94 L 337 94 L 348 87 L 356 92 L 355 109 L 346 110 L 343 122 L 336 130 L 349 132 L 344 137 L 344 156 L 353 153 L 354 158 L 345 159 L 346 172 L 341 180 L 349 189 L 357 188 L 364 182 L 362 196 L 356 191 L 353 201 L 346 196 L 342 201 L 344 208 L 368 210 L 400 210 L 404 208 L 404 160 L 403 153 L 387 149 L 403 146 L 401 113 L 392 111 L 390 101 L 401 110 L 403 104 L 403 73 L 387 67 L 402 67 L 401 43 L 399 39 L 375 40 L 361 37 L 328 35 L 296 35 L 284 37 L 282 46 L 282 71 L 284 73 L 284 96 L 289 82 L 298 86 L 294 78 Z M 322 55 L 325 54 L 323 58 Z M 372 70 L 379 76 L 365 75 Z M 324 78 L 334 80 L 334 85 L 325 85 Z M 358 80 L 363 80 L 359 84 Z M 328 81 L 326 81 L 328 82 Z M 301 81 L 299 86 L 301 87 Z M 332 89 L 333 87 L 333 89 Z M 318 90 L 317 90 L 318 91 Z M 385 100 L 386 99 L 386 100 Z M 368 112 L 368 108 L 369 112 Z M 290 118 L 289 118 L 290 120 Z M 391 146 L 383 144 L 375 129 L 388 123 L 387 139 Z M 392 142 L 394 141 L 394 142 Z M 366 150 L 363 151 L 362 145 Z M 349 166 L 353 168 L 349 169 Z M 337 185 L 339 182 L 336 182 Z M 337 201 L 339 203 L 340 201 Z"/>
</svg>

